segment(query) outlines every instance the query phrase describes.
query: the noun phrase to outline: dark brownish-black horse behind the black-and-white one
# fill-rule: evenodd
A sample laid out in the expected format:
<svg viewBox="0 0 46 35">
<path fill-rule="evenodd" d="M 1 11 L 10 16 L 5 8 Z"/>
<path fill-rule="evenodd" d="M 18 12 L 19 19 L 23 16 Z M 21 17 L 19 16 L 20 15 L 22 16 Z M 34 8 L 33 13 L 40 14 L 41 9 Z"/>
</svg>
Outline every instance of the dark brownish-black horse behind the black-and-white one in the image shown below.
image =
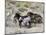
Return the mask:
<svg viewBox="0 0 46 35">
<path fill-rule="evenodd" d="M 31 12 L 28 12 L 27 15 L 31 17 L 31 23 L 42 23 L 42 17 L 40 15 Z"/>
</svg>

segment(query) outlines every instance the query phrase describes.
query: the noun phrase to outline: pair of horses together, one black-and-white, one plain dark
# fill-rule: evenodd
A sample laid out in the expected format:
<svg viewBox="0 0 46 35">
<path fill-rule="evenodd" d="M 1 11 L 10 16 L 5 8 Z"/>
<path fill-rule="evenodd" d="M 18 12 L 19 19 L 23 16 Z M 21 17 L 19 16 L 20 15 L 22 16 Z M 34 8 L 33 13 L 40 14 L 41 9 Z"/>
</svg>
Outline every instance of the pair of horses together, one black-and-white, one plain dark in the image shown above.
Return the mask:
<svg viewBox="0 0 46 35">
<path fill-rule="evenodd" d="M 14 16 L 14 20 L 15 18 L 19 21 L 20 28 L 22 27 L 22 25 L 31 28 L 31 23 L 42 23 L 42 17 L 31 12 L 28 12 L 26 16 L 21 16 L 20 13 L 16 13 Z"/>
</svg>

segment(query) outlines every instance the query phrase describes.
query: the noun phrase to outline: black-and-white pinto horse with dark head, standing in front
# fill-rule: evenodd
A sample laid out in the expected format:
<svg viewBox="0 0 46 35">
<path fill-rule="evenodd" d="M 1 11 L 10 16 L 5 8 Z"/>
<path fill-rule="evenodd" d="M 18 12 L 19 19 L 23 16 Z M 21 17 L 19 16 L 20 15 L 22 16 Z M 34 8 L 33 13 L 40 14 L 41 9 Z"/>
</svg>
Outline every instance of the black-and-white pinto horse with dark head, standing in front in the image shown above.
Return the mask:
<svg viewBox="0 0 46 35">
<path fill-rule="evenodd" d="M 19 26 L 21 28 L 22 24 L 24 24 L 25 26 L 27 26 L 28 24 L 28 28 L 31 27 L 31 17 L 30 16 L 20 16 L 19 13 L 16 13 L 14 18 L 19 20 Z"/>
</svg>

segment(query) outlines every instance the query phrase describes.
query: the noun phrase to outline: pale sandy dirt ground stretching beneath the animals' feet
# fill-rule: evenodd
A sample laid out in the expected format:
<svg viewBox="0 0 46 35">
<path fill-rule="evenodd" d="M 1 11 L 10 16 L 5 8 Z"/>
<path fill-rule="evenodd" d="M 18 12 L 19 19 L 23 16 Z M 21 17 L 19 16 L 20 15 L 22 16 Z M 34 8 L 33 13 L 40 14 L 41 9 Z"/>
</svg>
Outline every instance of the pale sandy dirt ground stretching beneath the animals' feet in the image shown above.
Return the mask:
<svg viewBox="0 0 46 35">
<path fill-rule="evenodd" d="M 6 34 L 12 34 L 12 33 L 35 33 L 35 32 L 43 32 L 43 24 L 34 24 L 32 25 L 32 28 L 26 28 L 26 27 L 6 27 Z"/>
</svg>

